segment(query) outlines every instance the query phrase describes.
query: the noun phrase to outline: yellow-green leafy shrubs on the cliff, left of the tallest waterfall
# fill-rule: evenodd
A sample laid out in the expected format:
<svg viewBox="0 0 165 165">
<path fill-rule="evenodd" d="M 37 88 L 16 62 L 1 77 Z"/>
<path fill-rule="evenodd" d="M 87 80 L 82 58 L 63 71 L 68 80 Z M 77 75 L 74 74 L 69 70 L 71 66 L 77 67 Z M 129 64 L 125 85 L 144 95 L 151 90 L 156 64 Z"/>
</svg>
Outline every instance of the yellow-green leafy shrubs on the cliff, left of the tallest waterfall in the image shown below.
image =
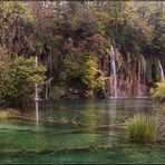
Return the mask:
<svg viewBox="0 0 165 165">
<path fill-rule="evenodd" d="M 86 96 L 93 96 L 93 91 L 105 86 L 106 78 L 100 76 L 98 69 L 98 58 L 96 56 L 80 56 L 81 61 L 64 61 L 64 71 L 60 74 L 60 79 L 68 87 L 82 87 L 86 90 Z"/>
</svg>

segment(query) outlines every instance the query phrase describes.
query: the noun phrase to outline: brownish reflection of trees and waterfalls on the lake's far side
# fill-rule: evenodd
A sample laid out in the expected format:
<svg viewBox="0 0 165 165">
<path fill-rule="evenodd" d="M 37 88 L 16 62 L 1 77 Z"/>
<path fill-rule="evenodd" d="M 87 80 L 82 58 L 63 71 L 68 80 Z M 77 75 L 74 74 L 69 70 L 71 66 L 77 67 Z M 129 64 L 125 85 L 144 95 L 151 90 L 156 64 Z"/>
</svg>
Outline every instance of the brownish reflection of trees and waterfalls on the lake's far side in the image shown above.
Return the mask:
<svg viewBox="0 0 165 165">
<path fill-rule="evenodd" d="M 37 127 L 40 119 L 49 122 L 49 128 L 51 128 L 51 120 L 61 122 L 62 118 L 69 122 L 72 122 L 74 118 L 77 123 L 82 123 L 85 127 L 97 127 L 115 124 L 116 120 L 120 120 L 134 111 L 151 108 L 152 104 L 148 99 L 97 101 L 36 100 L 25 106 L 22 115 L 33 118 Z"/>
</svg>

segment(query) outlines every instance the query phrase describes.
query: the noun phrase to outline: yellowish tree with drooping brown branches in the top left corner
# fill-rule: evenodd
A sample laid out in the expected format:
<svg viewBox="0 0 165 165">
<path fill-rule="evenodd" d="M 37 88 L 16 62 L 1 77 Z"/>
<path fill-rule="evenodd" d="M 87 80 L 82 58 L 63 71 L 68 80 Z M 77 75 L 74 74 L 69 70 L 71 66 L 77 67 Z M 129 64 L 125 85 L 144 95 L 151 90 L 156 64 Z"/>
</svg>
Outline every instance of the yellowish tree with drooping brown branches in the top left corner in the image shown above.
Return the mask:
<svg viewBox="0 0 165 165">
<path fill-rule="evenodd" d="M 25 3 L 2 2 L 0 8 L 1 45 L 8 48 L 9 55 L 14 57 L 28 54 L 29 56 L 35 52 L 31 39 L 35 26 L 36 19 Z"/>
</svg>

